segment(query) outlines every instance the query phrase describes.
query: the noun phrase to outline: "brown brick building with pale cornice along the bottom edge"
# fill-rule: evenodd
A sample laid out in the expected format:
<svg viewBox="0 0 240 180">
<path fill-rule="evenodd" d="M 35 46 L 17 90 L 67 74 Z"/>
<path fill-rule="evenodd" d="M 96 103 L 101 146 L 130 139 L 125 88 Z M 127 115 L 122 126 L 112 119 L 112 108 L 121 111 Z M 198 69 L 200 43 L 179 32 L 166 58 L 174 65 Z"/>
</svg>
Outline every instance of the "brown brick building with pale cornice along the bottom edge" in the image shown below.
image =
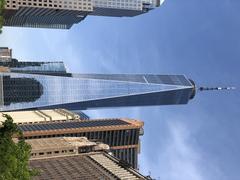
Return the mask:
<svg viewBox="0 0 240 180">
<path fill-rule="evenodd" d="M 40 170 L 34 179 L 148 179 L 105 152 L 33 159 L 30 166 Z"/>
</svg>

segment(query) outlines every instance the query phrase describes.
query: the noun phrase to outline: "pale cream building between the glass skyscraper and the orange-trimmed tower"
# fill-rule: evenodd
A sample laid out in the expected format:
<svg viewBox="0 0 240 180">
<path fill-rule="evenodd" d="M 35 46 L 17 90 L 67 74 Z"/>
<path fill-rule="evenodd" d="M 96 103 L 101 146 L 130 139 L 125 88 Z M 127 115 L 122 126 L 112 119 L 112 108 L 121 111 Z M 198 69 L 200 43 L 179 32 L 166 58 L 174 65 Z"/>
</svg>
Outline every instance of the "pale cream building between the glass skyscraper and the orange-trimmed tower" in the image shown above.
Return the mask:
<svg viewBox="0 0 240 180">
<path fill-rule="evenodd" d="M 33 124 L 43 122 L 79 120 L 80 116 L 66 109 L 34 110 L 34 111 L 13 111 L 0 112 L 0 124 L 5 121 L 3 114 L 12 117 L 16 124 Z"/>
</svg>

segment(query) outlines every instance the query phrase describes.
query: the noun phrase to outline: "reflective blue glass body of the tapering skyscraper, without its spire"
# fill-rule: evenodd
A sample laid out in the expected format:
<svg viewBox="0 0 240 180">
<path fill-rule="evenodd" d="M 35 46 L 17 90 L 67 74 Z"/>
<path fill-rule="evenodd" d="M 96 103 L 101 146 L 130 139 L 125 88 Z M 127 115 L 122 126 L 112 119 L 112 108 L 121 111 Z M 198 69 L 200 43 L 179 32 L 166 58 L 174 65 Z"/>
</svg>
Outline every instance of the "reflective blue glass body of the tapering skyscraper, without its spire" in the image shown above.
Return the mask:
<svg viewBox="0 0 240 180">
<path fill-rule="evenodd" d="M 194 91 L 183 75 L 0 73 L 0 80 L 1 111 L 186 104 Z"/>
</svg>

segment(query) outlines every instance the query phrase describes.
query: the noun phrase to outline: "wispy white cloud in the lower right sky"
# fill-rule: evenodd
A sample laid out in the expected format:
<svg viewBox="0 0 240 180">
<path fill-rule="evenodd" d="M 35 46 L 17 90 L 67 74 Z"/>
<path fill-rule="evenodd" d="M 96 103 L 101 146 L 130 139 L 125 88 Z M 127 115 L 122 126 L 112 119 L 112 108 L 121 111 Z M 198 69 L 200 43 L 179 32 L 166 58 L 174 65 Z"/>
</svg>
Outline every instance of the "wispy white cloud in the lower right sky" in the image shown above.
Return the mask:
<svg viewBox="0 0 240 180">
<path fill-rule="evenodd" d="M 190 130 L 182 123 L 169 122 L 170 138 L 163 156 L 167 157 L 168 173 L 163 179 L 202 180 L 199 168 L 201 155 L 189 143 Z M 161 157 L 159 159 L 161 162 Z"/>
</svg>

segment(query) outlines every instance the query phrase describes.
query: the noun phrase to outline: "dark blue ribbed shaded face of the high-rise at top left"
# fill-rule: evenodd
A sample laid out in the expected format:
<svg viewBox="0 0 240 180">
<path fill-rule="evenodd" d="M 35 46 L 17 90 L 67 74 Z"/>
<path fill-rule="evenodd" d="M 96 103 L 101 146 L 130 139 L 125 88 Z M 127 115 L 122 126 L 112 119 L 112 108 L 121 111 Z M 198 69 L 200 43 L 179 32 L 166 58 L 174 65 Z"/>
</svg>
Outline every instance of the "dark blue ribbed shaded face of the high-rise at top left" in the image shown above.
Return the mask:
<svg viewBox="0 0 240 180">
<path fill-rule="evenodd" d="M 4 26 L 70 29 L 72 25 L 84 20 L 88 14 L 88 11 L 20 7 L 4 12 Z"/>
</svg>

